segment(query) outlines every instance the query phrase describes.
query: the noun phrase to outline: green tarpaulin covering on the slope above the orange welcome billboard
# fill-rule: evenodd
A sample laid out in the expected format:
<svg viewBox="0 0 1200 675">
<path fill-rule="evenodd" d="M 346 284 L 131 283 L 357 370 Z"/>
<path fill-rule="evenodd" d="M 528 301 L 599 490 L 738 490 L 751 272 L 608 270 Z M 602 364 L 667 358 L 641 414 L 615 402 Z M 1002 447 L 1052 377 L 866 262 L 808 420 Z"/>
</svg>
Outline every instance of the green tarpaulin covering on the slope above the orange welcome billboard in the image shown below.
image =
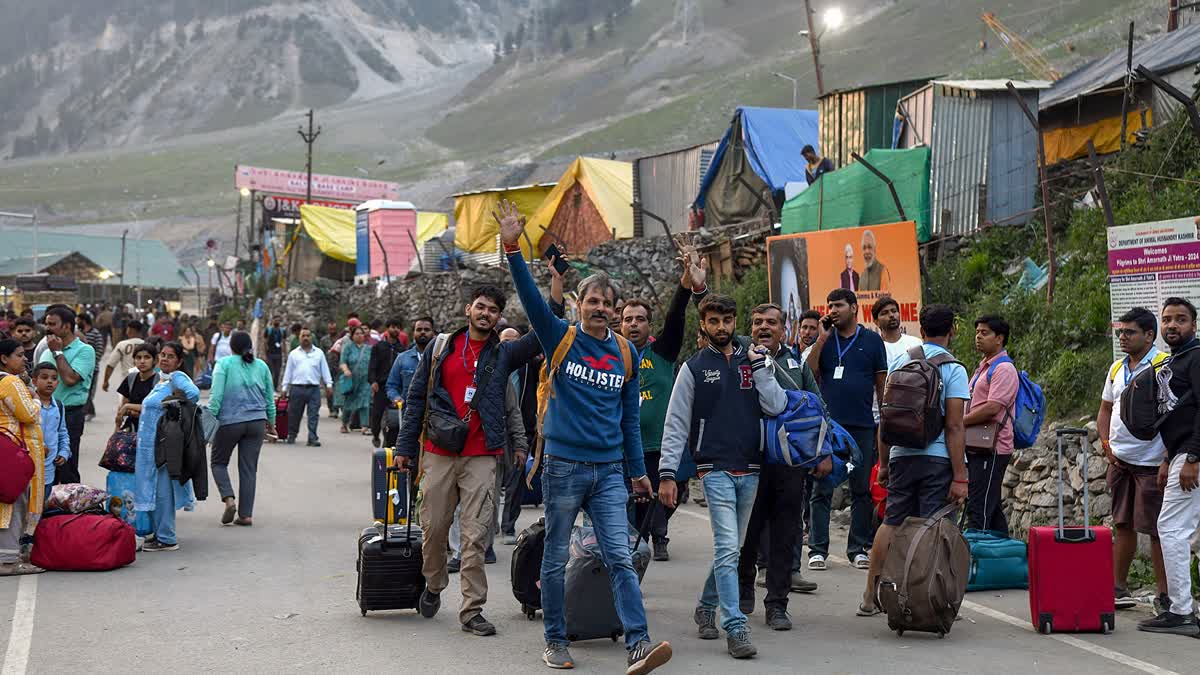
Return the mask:
<svg viewBox="0 0 1200 675">
<path fill-rule="evenodd" d="M 854 162 L 822 175 L 784 204 L 782 233 L 914 220 L 917 240 L 929 241 L 929 148 L 871 150 L 865 159 L 895 184 L 906 217 L 900 217 L 887 184 Z"/>
</svg>

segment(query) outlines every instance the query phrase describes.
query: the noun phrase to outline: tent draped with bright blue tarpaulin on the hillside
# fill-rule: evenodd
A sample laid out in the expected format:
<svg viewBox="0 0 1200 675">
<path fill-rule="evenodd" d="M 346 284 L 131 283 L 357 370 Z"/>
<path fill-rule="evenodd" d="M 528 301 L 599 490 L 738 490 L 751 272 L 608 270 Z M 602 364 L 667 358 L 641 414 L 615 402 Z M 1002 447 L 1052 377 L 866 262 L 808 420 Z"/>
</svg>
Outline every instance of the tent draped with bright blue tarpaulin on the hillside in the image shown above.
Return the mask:
<svg viewBox="0 0 1200 675">
<path fill-rule="evenodd" d="M 704 220 L 731 225 L 763 215 L 755 196 L 768 187 L 778 208 L 784 186 L 804 180 L 800 150 L 812 145 L 821 151 L 818 129 L 816 110 L 738 108 L 700 184 L 696 207 Z"/>
</svg>

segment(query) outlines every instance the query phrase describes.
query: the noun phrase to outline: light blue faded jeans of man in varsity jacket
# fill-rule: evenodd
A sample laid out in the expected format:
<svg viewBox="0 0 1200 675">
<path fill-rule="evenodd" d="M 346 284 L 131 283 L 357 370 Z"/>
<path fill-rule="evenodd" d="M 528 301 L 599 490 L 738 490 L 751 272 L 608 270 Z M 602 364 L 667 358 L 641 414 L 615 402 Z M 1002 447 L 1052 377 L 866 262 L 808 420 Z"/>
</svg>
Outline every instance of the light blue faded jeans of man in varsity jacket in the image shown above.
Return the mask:
<svg viewBox="0 0 1200 675">
<path fill-rule="evenodd" d="M 758 474 L 733 476 L 709 471 L 701 482 L 708 500 L 708 519 L 713 525 L 713 567 L 700 593 L 700 607 L 716 609 L 720 605 L 721 628 L 730 632 L 746 625 L 746 615 L 738 605 L 738 555 L 758 494 Z"/>
</svg>

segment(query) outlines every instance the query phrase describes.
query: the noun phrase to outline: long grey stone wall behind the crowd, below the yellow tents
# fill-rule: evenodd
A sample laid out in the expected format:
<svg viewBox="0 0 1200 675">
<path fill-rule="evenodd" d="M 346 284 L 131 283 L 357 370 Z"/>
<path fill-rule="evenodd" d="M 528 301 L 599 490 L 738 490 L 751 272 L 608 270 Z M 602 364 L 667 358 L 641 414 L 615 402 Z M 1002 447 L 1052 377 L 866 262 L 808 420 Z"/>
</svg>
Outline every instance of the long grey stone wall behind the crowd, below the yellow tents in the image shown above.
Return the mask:
<svg viewBox="0 0 1200 675">
<path fill-rule="evenodd" d="M 740 279 L 746 268 L 766 261 L 767 232 L 752 225 L 702 229 L 692 237 L 702 252 L 714 256 L 722 243 L 731 243 L 727 265 L 732 269 L 731 281 Z M 605 271 L 618 281 L 623 297 L 646 299 L 658 305 L 656 315 L 661 316 L 679 282 L 676 257 L 676 249 L 666 237 L 606 241 L 576 261 L 580 269 L 568 273 L 566 291 L 571 292 L 581 275 Z M 539 288 L 547 293 L 550 273 L 546 265 L 535 262 L 530 267 Z M 450 329 L 462 325 L 467 295 L 484 283 L 498 286 L 508 294 L 504 317 L 509 323 L 527 323 L 508 268 L 475 263 L 463 263 L 456 271 L 414 273 L 385 288 L 324 280 L 296 283 L 272 291 L 264 312 L 266 317 L 280 316 L 284 324 L 300 322 L 314 328 L 328 321 L 342 323 L 348 311 L 356 311 L 366 319 L 397 317 L 406 327 L 427 315 L 433 317 L 438 329 Z"/>
</svg>

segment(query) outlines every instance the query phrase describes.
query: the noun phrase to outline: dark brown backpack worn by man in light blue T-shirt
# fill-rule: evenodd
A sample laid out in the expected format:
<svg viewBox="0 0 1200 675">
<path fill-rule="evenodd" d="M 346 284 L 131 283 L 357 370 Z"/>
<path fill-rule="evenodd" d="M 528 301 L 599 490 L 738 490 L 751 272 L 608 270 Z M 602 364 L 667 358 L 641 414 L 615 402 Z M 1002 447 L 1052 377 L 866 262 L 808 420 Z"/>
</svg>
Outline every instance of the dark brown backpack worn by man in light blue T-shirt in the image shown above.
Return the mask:
<svg viewBox="0 0 1200 675">
<path fill-rule="evenodd" d="M 926 359 L 922 347 L 908 350 L 908 358 L 883 386 L 880 436 L 888 446 L 928 448 L 944 426 L 941 366 L 959 362 L 949 354 Z"/>
</svg>

